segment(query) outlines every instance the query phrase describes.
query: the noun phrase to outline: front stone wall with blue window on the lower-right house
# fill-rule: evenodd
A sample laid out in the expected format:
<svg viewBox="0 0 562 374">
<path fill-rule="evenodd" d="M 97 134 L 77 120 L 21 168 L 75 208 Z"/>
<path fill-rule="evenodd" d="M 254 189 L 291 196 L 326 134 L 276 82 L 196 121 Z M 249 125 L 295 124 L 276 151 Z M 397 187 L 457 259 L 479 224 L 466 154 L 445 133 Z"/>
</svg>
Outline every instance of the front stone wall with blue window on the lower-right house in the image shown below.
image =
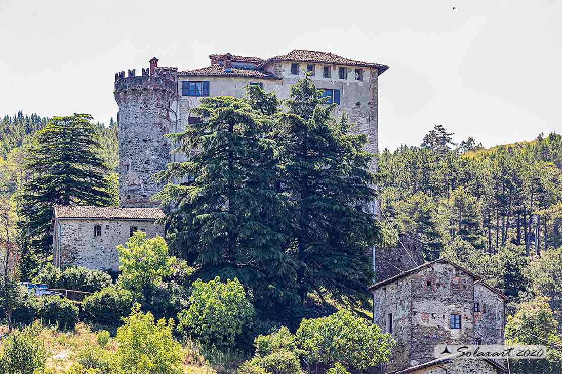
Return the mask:
<svg viewBox="0 0 562 374">
<path fill-rule="evenodd" d="M 474 278 L 447 263 L 436 263 L 409 276 L 412 282 L 410 366 L 434 359 L 438 344 L 474 342 Z M 430 284 L 428 284 L 430 282 Z M 461 316 L 461 328 L 450 316 Z"/>
</svg>

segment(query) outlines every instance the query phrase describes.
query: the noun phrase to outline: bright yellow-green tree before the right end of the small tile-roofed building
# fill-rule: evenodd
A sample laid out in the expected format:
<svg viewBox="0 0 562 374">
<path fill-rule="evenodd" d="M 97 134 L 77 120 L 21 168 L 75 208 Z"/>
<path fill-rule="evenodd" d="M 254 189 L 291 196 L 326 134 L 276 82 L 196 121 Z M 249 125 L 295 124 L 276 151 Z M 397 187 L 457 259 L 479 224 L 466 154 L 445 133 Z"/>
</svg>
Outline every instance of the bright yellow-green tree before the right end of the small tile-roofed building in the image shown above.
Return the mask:
<svg viewBox="0 0 562 374">
<path fill-rule="evenodd" d="M 162 278 L 173 273 L 175 257 L 168 256 L 164 238 L 146 237 L 146 233 L 136 232 L 129 240 L 117 246 L 119 251 L 119 284 L 132 290 L 140 297 L 149 285 L 160 283 Z"/>
</svg>

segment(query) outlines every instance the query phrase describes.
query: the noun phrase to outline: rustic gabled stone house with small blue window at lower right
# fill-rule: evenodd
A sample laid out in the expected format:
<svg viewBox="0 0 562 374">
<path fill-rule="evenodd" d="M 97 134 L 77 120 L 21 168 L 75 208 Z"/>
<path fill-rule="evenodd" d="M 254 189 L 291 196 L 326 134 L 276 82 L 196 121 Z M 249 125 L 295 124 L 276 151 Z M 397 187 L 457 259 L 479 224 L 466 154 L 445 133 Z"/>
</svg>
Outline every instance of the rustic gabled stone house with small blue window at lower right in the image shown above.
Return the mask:
<svg viewBox="0 0 562 374">
<path fill-rule="evenodd" d="M 369 290 L 373 292 L 373 322 L 397 343 L 384 373 L 433 373 L 431 367 L 443 363 L 434 357 L 434 348 L 440 344 L 504 343 L 506 296 L 444 258 L 379 281 Z M 447 363 L 467 367 L 450 373 L 469 373 L 468 367 L 477 364 L 485 364 L 490 371 L 474 369 L 474 373 L 502 370 L 500 364 L 474 359 Z"/>
</svg>

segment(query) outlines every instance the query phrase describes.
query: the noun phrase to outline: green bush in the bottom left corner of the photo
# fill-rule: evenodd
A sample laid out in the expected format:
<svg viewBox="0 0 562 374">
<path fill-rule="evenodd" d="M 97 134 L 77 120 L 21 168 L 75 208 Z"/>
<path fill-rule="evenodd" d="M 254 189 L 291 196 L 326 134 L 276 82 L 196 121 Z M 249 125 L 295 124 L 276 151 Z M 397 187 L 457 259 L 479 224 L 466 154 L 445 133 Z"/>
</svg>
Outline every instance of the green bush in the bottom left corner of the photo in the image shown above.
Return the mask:
<svg viewBox="0 0 562 374">
<path fill-rule="evenodd" d="M 3 339 L 0 373 L 33 374 L 45 367 L 46 350 L 39 339 L 40 326 L 33 324 L 15 330 Z"/>
</svg>

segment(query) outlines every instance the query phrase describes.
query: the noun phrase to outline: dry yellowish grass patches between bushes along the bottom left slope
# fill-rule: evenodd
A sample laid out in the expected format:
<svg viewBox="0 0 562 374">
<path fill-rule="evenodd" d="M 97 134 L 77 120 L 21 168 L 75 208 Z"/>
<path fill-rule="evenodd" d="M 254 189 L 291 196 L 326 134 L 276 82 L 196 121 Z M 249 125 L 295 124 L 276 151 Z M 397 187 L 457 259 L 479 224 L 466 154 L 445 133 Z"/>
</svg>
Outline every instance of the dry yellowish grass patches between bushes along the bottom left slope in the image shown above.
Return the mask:
<svg viewBox="0 0 562 374">
<path fill-rule="evenodd" d="M 0 325 L 0 336 L 7 331 L 6 325 Z M 96 333 L 84 323 L 77 324 L 74 331 L 58 331 L 55 326 L 45 326 L 41 330 L 40 339 L 43 340 L 47 350 L 47 372 L 55 373 L 68 371 L 81 349 L 98 345 Z M 0 340 L 1 347 L 2 340 Z M 115 352 L 117 342 L 111 339 L 105 349 Z M 192 342 L 184 345 L 184 351 L 185 374 L 235 374 L 237 367 L 243 361 L 235 354 L 219 352 L 205 352 L 210 356 L 206 359 L 201 353 L 201 348 Z"/>
</svg>

